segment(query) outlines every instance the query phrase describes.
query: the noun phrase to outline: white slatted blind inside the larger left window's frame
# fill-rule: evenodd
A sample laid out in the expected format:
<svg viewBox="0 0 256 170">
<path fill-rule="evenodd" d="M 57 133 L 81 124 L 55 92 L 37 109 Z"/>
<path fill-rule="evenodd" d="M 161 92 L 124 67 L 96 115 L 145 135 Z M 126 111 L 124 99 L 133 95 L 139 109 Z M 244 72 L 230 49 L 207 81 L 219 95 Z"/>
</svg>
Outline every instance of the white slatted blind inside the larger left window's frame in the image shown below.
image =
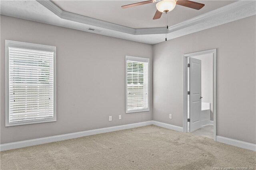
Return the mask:
<svg viewBox="0 0 256 170">
<path fill-rule="evenodd" d="M 9 123 L 54 116 L 54 52 L 9 48 Z"/>
</svg>

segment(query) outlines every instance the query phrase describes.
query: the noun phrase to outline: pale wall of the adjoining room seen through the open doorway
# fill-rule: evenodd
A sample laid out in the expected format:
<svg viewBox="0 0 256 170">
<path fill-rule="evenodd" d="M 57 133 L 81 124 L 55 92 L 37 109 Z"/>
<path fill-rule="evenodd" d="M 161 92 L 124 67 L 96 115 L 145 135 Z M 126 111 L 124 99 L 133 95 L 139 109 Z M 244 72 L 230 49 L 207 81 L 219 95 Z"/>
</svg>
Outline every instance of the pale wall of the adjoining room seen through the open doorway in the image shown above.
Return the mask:
<svg viewBox="0 0 256 170">
<path fill-rule="evenodd" d="M 202 102 L 210 103 L 210 120 L 213 121 L 213 54 L 194 56 L 202 65 Z"/>
</svg>

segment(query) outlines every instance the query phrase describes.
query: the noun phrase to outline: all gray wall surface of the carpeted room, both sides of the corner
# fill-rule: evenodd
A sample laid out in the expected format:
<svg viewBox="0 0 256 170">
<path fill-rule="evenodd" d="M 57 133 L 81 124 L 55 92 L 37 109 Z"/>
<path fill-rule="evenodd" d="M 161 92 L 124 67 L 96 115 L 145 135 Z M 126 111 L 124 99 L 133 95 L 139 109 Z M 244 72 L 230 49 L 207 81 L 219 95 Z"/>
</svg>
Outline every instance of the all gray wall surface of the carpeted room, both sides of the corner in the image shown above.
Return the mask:
<svg viewBox="0 0 256 170">
<path fill-rule="evenodd" d="M 213 48 L 218 49 L 217 135 L 256 143 L 255 25 L 252 16 L 152 47 L 1 16 L 1 144 L 152 119 L 182 127 L 182 55 Z M 4 126 L 4 40 L 57 46 L 57 122 Z M 125 114 L 125 55 L 150 58 L 149 112 Z"/>
</svg>

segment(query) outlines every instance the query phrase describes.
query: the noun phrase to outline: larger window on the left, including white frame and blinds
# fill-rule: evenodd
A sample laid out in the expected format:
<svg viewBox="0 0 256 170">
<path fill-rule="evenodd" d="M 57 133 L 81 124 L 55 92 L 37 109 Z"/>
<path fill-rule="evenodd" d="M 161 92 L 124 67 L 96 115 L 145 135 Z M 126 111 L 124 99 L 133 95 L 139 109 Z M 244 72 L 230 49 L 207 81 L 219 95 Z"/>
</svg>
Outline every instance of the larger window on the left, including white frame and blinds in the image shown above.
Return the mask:
<svg viewBox="0 0 256 170">
<path fill-rule="evenodd" d="M 5 41 L 6 126 L 56 121 L 56 47 Z"/>
</svg>

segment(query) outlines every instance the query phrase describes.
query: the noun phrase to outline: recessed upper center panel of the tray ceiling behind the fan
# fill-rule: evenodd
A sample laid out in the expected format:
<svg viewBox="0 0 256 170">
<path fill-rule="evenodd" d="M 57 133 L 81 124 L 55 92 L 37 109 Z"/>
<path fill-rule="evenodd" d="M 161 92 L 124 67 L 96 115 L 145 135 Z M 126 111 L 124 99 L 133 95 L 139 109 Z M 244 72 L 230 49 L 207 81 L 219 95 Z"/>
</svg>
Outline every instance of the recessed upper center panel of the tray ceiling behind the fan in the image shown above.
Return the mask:
<svg viewBox="0 0 256 170">
<path fill-rule="evenodd" d="M 141 2 L 138 0 L 53 0 L 54 4 L 62 10 L 88 16 L 98 20 L 126 26 L 130 28 L 158 28 L 166 24 L 166 15 L 158 20 L 152 20 L 156 12 L 156 3 L 145 4 L 133 8 L 122 9 L 121 6 Z M 201 10 L 194 10 L 184 6 L 177 5 L 174 10 L 169 12 L 168 25 L 172 26 L 215 10 L 227 4 L 231 4 L 233 0 L 195 0 L 205 4 Z"/>
</svg>

